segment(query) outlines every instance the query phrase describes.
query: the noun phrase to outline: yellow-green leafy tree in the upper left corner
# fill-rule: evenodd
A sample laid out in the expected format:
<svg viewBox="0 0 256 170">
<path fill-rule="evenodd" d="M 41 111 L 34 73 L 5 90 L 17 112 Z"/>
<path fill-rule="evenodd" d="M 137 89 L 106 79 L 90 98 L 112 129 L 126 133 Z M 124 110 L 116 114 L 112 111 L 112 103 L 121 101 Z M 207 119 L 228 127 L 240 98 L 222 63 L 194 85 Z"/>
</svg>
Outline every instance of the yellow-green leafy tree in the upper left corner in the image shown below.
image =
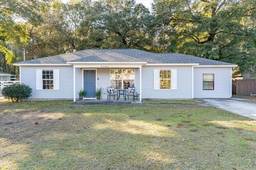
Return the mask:
<svg viewBox="0 0 256 170">
<path fill-rule="evenodd" d="M 3 0 L 0 2 L 0 64 L 1 70 L 8 71 L 8 67 L 15 61 L 14 49 L 28 43 L 28 31 L 25 20 L 36 23 L 39 15 L 36 9 L 41 1 L 36 0 Z"/>
</svg>

